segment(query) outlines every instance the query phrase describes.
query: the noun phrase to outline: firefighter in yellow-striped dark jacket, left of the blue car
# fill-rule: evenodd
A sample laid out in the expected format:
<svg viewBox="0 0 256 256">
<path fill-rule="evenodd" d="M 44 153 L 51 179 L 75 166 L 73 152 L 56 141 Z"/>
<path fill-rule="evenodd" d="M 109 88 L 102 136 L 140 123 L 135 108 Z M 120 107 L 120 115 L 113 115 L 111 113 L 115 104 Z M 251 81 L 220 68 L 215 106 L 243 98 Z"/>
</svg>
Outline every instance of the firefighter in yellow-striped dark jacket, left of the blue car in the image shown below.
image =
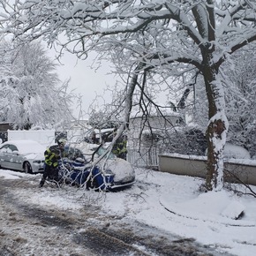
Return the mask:
<svg viewBox="0 0 256 256">
<path fill-rule="evenodd" d="M 44 170 L 39 184 L 40 187 L 43 186 L 47 177 L 56 183 L 60 181 L 58 176 L 58 160 L 63 157 L 65 144 L 65 139 L 59 139 L 57 140 L 57 145 L 53 145 L 45 150 Z"/>
</svg>

